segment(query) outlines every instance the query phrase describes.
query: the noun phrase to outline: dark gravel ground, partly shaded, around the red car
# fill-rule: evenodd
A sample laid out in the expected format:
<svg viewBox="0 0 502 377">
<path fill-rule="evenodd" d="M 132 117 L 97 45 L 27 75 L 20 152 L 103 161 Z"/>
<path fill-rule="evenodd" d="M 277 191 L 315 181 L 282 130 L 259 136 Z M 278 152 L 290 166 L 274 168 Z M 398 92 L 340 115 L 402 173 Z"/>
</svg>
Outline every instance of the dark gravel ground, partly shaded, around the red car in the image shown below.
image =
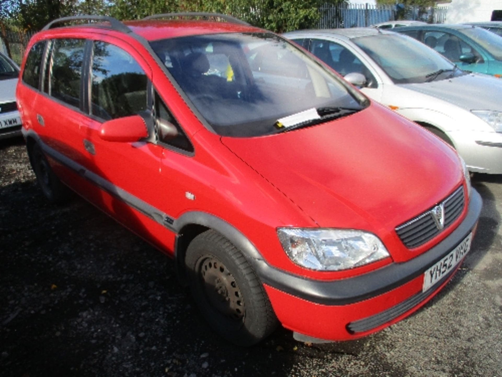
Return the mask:
<svg viewBox="0 0 502 377">
<path fill-rule="evenodd" d="M 245 349 L 206 328 L 164 255 L 79 198 L 50 205 L 22 139 L 0 161 L 2 376 L 502 376 L 500 176 L 475 176 L 471 251 L 417 313 L 358 341 L 280 329 Z"/>
</svg>

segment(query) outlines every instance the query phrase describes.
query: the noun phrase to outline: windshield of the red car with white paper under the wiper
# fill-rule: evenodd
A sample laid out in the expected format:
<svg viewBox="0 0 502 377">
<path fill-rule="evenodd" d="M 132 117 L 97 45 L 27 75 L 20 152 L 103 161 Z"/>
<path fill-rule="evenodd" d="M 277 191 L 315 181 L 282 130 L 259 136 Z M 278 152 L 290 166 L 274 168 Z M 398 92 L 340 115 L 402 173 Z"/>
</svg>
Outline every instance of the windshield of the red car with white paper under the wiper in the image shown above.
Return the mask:
<svg viewBox="0 0 502 377">
<path fill-rule="evenodd" d="M 222 136 L 272 134 L 281 131 L 282 123 L 319 123 L 326 109 L 331 114 L 333 109 L 358 111 L 368 104 L 334 73 L 273 34 L 190 36 L 151 46 L 198 113 Z"/>
</svg>

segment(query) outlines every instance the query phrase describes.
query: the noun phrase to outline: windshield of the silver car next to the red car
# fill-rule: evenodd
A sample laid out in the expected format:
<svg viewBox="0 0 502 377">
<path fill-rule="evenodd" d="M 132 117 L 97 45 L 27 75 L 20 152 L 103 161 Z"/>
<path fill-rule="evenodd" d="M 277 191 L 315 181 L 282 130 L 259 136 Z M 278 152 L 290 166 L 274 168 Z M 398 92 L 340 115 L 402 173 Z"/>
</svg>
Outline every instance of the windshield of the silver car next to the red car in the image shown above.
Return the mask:
<svg viewBox="0 0 502 377">
<path fill-rule="evenodd" d="M 440 54 L 404 35 L 379 34 L 352 41 L 397 84 L 428 82 L 464 74 Z"/>
</svg>

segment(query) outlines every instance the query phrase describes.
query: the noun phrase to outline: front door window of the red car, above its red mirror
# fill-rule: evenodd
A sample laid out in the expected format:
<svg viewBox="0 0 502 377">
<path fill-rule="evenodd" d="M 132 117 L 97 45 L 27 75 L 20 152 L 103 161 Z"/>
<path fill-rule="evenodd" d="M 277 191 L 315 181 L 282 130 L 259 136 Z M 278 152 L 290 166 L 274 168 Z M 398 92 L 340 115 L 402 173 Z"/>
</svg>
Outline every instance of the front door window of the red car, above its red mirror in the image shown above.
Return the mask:
<svg viewBox="0 0 502 377">
<path fill-rule="evenodd" d="M 147 76 L 126 51 L 94 42 L 91 114 L 104 120 L 135 115 L 147 109 Z"/>
</svg>

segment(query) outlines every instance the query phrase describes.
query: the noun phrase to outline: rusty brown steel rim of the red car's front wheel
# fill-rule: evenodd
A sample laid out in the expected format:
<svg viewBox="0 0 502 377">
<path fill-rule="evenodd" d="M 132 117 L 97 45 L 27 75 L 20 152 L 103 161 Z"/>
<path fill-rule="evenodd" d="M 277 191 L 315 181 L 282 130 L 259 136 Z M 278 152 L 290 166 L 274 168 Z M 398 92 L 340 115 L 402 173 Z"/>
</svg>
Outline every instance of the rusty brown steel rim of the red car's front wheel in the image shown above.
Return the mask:
<svg viewBox="0 0 502 377">
<path fill-rule="evenodd" d="M 208 303 L 218 313 L 232 322 L 242 322 L 245 305 L 235 278 L 213 256 L 205 257 L 200 262 L 200 285 Z"/>
</svg>

